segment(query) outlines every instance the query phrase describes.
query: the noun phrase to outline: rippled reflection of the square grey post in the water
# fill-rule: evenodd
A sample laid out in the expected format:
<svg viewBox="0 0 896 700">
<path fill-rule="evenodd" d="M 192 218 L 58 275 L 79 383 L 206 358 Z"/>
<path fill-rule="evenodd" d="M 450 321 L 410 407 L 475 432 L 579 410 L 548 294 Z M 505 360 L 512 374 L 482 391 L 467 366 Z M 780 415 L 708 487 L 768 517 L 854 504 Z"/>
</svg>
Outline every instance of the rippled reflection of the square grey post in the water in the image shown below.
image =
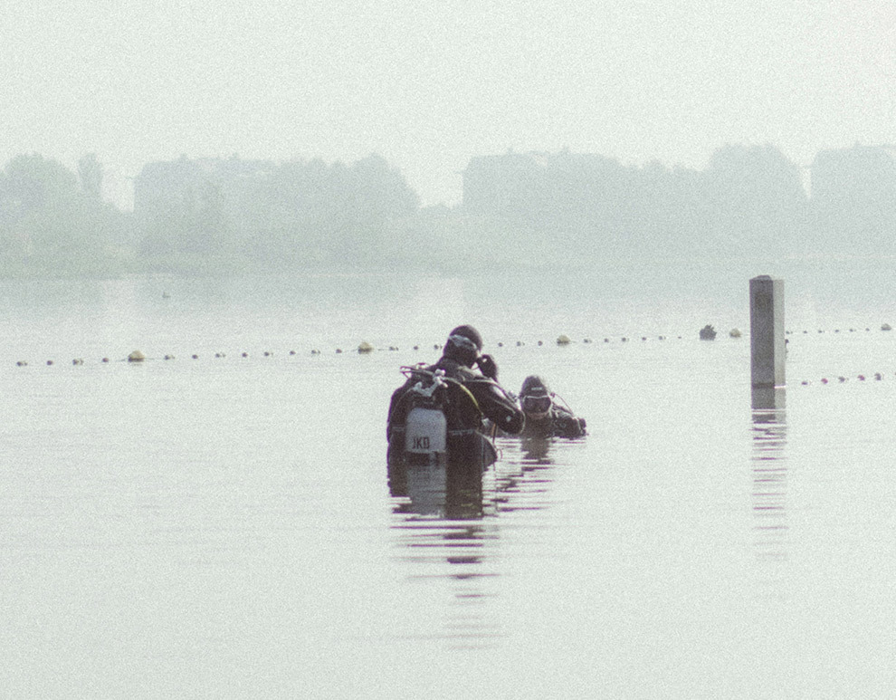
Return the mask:
<svg viewBox="0 0 896 700">
<path fill-rule="evenodd" d="M 767 583 L 779 588 L 788 559 L 785 389 L 754 388 L 752 408 L 754 544 Z"/>
</svg>

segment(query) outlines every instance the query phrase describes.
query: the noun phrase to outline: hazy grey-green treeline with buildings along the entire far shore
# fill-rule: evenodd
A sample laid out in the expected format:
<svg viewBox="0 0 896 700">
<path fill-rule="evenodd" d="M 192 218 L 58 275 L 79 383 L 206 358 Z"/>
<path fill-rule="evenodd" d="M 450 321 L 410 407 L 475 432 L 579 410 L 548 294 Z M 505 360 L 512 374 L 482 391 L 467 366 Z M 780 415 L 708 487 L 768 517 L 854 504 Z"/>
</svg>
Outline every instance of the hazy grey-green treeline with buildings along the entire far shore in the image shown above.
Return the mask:
<svg viewBox="0 0 896 700">
<path fill-rule="evenodd" d="M 729 146 L 694 170 L 509 152 L 472 158 L 453 208 L 421 207 L 376 155 L 179 158 L 142 169 L 133 212 L 103 201 L 95 155 L 76 173 L 23 155 L 0 173 L 0 276 L 896 255 L 894 154 L 828 150 L 799 168 Z"/>
</svg>

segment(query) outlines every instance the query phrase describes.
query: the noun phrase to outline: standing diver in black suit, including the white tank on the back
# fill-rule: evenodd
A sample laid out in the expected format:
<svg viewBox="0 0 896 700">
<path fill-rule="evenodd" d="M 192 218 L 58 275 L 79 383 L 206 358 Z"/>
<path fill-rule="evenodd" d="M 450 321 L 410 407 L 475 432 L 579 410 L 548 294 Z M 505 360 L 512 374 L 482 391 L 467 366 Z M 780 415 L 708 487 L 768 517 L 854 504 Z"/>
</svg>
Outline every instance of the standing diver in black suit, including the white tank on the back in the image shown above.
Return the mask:
<svg viewBox="0 0 896 700">
<path fill-rule="evenodd" d="M 498 368 L 481 349 L 479 332 L 458 326 L 434 365 L 403 369 L 407 380 L 392 394 L 386 425 L 390 463 L 462 459 L 491 465 L 497 452 L 485 435 L 485 420 L 519 433 L 523 413 L 500 387 Z"/>
</svg>

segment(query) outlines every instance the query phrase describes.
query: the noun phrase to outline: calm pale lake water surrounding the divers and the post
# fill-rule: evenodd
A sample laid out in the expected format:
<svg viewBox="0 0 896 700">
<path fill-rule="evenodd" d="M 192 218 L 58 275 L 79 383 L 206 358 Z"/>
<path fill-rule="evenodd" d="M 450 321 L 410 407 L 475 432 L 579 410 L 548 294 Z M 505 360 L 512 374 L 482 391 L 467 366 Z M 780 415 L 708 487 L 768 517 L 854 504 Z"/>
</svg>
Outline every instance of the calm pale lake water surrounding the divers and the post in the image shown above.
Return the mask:
<svg viewBox="0 0 896 700">
<path fill-rule="evenodd" d="M 769 400 L 748 275 L 3 283 L 0 695 L 891 697 L 896 305 L 787 285 Z M 395 494 L 461 322 L 590 434 Z"/>
</svg>

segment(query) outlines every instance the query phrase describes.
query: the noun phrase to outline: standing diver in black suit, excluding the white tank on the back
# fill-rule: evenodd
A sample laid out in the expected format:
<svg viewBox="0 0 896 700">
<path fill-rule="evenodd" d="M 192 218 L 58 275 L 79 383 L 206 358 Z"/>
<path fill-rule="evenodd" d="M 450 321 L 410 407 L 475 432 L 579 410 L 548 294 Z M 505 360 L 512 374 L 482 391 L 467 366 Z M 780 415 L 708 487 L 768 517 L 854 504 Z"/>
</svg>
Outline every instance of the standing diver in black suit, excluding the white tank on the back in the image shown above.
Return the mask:
<svg viewBox="0 0 896 700">
<path fill-rule="evenodd" d="M 428 402 L 444 416 L 446 452 L 471 456 L 491 464 L 497 458 L 485 434 L 491 423 L 511 435 L 523 429 L 525 417 L 517 402 L 498 383 L 498 366 L 481 354 L 482 337 L 469 325 L 453 329 L 442 357 L 429 366 L 405 368 L 407 381 L 389 402 L 386 436 L 389 458 L 406 449 L 406 420 L 415 407 Z"/>
</svg>

